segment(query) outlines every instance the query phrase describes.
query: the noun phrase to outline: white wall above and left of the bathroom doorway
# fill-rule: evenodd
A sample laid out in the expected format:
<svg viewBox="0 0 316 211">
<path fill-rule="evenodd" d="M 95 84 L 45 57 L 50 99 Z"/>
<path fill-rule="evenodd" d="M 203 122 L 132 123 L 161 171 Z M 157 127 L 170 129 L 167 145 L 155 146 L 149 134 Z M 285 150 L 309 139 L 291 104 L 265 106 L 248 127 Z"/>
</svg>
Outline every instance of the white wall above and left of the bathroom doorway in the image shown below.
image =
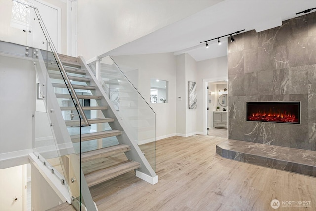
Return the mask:
<svg viewBox="0 0 316 211">
<path fill-rule="evenodd" d="M 197 82 L 202 84 L 204 81 L 221 81 L 223 79 L 228 79 L 228 69 L 227 69 L 227 56 L 208 59 L 204 61 L 197 62 Z M 197 105 L 203 105 L 203 85 L 197 86 Z M 216 98 L 217 99 L 217 98 Z M 206 111 L 203 107 L 198 107 L 197 110 L 197 120 L 202 120 L 205 118 Z M 203 121 L 197 121 L 197 131 L 204 131 Z"/>
</svg>

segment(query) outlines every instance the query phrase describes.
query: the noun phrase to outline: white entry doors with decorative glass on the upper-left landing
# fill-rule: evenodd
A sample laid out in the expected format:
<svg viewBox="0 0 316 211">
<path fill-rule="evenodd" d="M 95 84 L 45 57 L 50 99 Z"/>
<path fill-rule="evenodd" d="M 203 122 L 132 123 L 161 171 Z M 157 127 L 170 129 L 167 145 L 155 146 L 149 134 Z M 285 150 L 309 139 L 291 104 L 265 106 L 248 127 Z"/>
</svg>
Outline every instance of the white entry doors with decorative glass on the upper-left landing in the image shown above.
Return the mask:
<svg viewBox="0 0 316 211">
<path fill-rule="evenodd" d="M 38 8 L 55 48 L 61 51 L 61 8 L 43 1 L 29 0 Z M 0 37 L 2 41 L 45 49 L 44 34 L 31 7 L 14 1 L 0 0 Z"/>
</svg>

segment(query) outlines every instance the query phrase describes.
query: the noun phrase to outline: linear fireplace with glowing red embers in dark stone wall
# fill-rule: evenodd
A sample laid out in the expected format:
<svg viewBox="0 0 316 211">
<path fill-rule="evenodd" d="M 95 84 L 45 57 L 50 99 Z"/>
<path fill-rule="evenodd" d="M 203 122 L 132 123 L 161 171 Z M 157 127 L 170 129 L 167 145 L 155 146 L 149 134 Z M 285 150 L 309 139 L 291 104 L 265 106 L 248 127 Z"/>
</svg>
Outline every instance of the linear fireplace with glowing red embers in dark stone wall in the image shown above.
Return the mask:
<svg viewBox="0 0 316 211">
<path fill-rule="evenodd" d="M 247 121 L 300 124 L 300 102 L 247 102 Z"/>
</svg>

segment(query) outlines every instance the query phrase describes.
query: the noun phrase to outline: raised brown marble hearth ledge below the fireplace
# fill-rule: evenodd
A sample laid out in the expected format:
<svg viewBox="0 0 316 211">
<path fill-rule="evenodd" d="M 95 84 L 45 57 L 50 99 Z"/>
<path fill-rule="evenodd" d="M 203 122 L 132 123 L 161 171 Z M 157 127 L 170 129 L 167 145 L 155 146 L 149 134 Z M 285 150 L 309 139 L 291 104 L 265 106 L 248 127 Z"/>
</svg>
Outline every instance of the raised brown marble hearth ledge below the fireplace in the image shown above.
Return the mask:
<svg viewBox="0 0 316 211">
<path fill-rule="evenodd" d="M 316 151 L 237 140 L 216 145 L 224 158 L 316 177 Z"/>
</svg>

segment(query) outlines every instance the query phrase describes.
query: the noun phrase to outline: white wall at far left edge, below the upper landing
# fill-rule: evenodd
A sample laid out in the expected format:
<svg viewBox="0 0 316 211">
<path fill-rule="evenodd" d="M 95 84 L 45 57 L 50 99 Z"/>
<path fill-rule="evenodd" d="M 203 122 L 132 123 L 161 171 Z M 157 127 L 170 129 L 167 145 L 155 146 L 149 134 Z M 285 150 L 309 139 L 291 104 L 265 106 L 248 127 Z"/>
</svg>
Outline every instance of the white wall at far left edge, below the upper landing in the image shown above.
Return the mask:
<svg viewBox="0 0 316 211">
<path fill-rule="evenodd" d="M 36 97 L 33 62 L 1 56 L 0 67 L 0 154 L 31 149 Z"/>
</svg>

